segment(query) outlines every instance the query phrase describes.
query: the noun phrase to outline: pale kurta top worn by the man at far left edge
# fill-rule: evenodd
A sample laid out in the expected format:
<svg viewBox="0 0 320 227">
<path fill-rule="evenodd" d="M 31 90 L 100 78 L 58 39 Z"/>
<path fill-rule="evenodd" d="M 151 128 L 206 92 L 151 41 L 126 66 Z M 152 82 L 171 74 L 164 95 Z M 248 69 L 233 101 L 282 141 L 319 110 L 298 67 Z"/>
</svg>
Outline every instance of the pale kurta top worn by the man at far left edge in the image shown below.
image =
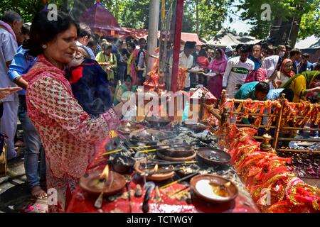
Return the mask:
<svg viewBox="0 0 320 227">
<path fill-rule="evenodd" d="M 17 87 L 8 77 L 6 62 L 14 59 L 18 44 L 14 37 L 4 28 L 0 28 L 0 87 Z M 14 101 L 14 95 L 6 97 L 3 101 Z"/>
</svg>

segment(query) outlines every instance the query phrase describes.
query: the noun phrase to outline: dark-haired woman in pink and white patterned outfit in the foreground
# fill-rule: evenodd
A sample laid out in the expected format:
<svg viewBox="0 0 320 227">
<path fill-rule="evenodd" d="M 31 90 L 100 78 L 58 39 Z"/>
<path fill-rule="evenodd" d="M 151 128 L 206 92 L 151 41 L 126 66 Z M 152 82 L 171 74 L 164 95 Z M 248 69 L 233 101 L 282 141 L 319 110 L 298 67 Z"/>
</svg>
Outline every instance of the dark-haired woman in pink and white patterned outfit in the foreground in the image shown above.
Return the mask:
<svg viewBox="0 0 320 227">
<path fill-rule="evenodd" d="M 60 11 L 58 20 L 49 18 L 48 11 L 42 11 L 33 19 L 25 46 L 38 61 L 23 79 L 28 82 L 28 116 L 46 148 L 47 188 L 58 192 L 58 202 L 53 201 L 49 211 L 63 212 L 97 145 L 119 125 L 123 104 L 98 118 L 83 111 L 64 71 L 74 57 L 78 26 Z"/>
</svg>

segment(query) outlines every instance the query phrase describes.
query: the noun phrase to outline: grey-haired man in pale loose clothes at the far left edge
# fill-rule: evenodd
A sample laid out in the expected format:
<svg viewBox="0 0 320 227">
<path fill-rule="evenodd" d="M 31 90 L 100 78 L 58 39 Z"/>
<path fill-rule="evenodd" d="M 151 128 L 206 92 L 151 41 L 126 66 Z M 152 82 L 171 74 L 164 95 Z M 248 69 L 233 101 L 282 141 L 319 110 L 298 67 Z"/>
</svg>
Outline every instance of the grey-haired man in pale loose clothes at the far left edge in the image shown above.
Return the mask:
<svg viewBox="0 0 320 227">
<path fill-rule="evenodd" d="M 18 43 L 16 37 L 20 35 L 23 20 L 15 11 L 6 11 L 0 21 L 0 87 L 17 87 L 8 77 L 8 67 L 14 59 Z M 16 157 L 14 150 L 14 135 L 16 134 L 18 118 L 18 95 L 12 94 L 4 101 L 4 115 L 0 121 L 1 133 L 8 136 L 7 158 Z"/>
</svg>

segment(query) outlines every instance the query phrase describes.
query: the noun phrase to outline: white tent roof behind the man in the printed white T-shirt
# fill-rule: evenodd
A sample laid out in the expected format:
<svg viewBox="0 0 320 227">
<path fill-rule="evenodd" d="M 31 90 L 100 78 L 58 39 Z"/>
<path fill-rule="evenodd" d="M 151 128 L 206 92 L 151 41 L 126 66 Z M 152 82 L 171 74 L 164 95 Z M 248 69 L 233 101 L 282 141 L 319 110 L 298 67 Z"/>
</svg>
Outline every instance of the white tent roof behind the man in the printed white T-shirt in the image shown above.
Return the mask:
<svg viewBox="0 0 320 227">
<path fill-rule="evenodd" d="M 206 45 L 209 48 L 226 48 L 228 45 L 233 48 L 241 43 L 252 45 L 256 43 L 260 43 L 261 40 L 257 40 L 252 36 L 240 36 L 234 35 L 228 31 L 219 31 L 217 35 L 211 38 Z"/>
</svg>

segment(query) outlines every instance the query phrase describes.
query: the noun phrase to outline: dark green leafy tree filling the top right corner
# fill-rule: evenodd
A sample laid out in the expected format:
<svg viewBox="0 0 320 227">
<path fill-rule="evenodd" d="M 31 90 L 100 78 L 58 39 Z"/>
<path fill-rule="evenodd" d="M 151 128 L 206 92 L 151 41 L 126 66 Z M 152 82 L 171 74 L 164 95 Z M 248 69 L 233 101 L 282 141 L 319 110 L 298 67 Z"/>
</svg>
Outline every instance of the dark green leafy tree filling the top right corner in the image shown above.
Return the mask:
<svg viewBox="0 0 320 227">
<path fill-rule="evenodd" d="M 262 4 L 271 7 L 271 20 L 262 21 Z M 268 35 L 282 43 L 294 45 L 297 37 L 320 36 L 320 0 L 240 0 L 242 20 L 250 20 L 250 35 L 267 38 Z"/>
</svg>

